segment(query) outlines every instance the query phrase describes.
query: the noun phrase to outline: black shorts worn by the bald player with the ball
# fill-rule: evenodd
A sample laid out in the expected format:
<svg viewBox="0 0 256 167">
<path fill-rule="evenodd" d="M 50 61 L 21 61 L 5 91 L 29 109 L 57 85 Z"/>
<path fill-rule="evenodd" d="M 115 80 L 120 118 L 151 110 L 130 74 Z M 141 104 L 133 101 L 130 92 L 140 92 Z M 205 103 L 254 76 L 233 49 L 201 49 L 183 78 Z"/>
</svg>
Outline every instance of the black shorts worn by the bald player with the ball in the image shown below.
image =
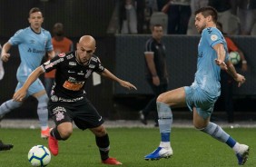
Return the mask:
<svg viewBox="0 0 256 167">
<path fill-rule="evenodd" d="M 70 122 L 82 130 L 95 128 L 104 123 L 103 117 L 86 98 L 75 103 L 49 102 L 48 110 L 56 126 Z"/>
</svg>

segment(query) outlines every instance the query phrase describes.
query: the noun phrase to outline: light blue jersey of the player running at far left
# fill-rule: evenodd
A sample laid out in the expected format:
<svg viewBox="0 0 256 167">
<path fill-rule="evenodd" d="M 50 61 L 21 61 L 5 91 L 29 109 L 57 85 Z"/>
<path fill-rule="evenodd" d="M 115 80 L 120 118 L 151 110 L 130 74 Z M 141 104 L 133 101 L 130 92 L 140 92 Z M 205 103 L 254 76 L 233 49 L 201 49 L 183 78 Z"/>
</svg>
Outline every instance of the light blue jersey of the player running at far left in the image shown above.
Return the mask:
<svg viewBox="0 0 256 167">
<path fill-rule="evenodd" d="M 21 64 L 17 71 L 17 77 L 28 76 L 38 67 L 47 51 L 54 50 L 51 42 L 51 34 L 41 28 L 39 34 L 31 27 L 19 30 L 9 39 L 12 45 L 18 45 Z"/>
</svg>

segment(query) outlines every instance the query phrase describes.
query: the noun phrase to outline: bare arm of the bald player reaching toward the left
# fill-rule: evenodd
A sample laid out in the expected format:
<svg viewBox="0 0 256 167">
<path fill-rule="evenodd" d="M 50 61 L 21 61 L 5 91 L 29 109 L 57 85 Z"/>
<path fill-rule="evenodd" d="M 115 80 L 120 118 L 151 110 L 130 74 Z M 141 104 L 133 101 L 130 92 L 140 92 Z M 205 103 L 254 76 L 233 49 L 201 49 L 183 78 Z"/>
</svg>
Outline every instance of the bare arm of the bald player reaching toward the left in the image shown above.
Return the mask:
<svg viewBox="0 0 256 167">
<path fill-rule="evenodd" d="M 34 81 L 40 76 L 40 74 L 43 74 L 44 71 L 41 66 L 37 67 L 32 74 L 29 75 L 29 77 L 26 79 L 24 85 L 17 91 L 15 92 L 13 99 L 17 102 L 23 101 L 26 95 L 26 91 L 28 87 L 34 83 Z"/>
</svg>

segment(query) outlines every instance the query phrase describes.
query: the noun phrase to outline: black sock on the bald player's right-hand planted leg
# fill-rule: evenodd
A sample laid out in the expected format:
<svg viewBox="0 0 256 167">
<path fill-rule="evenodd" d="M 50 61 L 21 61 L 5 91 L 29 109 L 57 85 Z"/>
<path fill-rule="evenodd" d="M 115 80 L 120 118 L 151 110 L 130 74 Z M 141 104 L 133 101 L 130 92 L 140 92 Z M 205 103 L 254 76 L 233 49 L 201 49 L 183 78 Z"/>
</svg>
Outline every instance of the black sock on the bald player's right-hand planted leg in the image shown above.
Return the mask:
<svg viewBox="0 0 256 167">
<path fill-rule="evenodd" d="M 110 148 L 110 142 L 108 138 L 108 134 L 104 135 L 103 137 L 95 137 L 96 139 L 96 144 L 99 147 L 99 151 L 101 153 L 101 158 L 103 161 L 109 158 L 108 152 Z"/>
</svg>

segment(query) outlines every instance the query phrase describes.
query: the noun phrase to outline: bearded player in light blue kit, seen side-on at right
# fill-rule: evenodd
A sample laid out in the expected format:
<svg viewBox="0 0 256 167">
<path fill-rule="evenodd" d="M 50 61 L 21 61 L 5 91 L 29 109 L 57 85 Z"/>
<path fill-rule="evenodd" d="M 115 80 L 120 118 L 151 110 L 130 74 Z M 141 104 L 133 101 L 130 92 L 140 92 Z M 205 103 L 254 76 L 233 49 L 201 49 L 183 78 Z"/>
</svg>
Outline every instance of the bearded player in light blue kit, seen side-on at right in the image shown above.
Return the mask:
<svg viewBox="0 0 256 167">
<path fill-rule="evenodd" d="M 161 142 L 154 152 L 144 157 L 145 160 L 158 160 L 172 156 L 171 107 L 188 106 L 193 113 L 193 125 L 197 130 L 230 146 L 240 165 L 247 161 L 249 146 L 236 142 L 219 125 L 210 122 L 214 103 L 221 94 L 221 70 L 226 70 L 228 74 L 231 74 L 238 82 L 238 86 L 245 82 L 244 76 L 236 73 L 229 60 L 226 41 L 216 28 L 216 22 L 217 12 L 212 7 L 202 7 L 195 12 L 195 26 L 202 37 L 198 44 L 197 71 L 194 82 L 191 86 L 184 86 L 158 96 L 156 104 Z"/>
</svg>

